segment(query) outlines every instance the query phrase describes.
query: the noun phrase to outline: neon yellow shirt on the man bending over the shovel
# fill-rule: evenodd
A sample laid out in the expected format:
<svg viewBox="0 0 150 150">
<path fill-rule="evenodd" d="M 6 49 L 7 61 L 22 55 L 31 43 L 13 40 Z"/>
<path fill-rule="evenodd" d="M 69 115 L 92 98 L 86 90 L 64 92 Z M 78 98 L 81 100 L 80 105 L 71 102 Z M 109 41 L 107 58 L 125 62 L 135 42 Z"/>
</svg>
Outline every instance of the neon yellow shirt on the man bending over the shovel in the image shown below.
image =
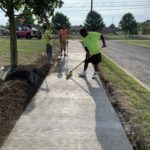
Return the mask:
<svg viewBox="0 0 150 150">
<path fill-rule="evenodd" d="M 98 32 L 88 32 L 88 35 L 82 39 L 83 46 L 88 48 L 91 56 L 100 52 L 100 35 Z"/>
</svg>

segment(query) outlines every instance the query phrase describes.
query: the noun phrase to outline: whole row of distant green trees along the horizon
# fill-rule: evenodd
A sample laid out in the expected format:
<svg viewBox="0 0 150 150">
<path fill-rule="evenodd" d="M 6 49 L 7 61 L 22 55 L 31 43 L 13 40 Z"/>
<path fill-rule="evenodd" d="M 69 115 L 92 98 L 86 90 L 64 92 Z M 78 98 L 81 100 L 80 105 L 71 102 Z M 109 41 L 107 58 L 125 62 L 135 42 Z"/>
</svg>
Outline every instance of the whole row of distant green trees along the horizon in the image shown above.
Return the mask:
<svg viewBox="0 0 150 150">
<path fill-rule="evenodd" d="M 69 18 L 61 12 L 56 12 L 55 15 L 52 16 L 50 22 L 50 25 L 53 26 L 54 29 L 53 32 L 57 33 L 64 24 L 67 28 L 71 27 Z M 16 17 L 16 26 L 21 25 L 33 25 L 41 28 L 38 23 L 35 24 L 35 19 L 33 18 L 33 15 L 30 14 L 30 10 L 28 8 L 24 9 L 24 11 Z M 89 31 L 102 32 L 105 27 L 105 23 L 98 12 L 90 11 L 85 18 L 83 26 Z M 6 27 L 9 28 L 9 24 L 7 24 Z M 116 34 L 116 27 L 114 24 L 111 24 L 108 28 L 113 34 Z M 150 34 L 150 20 L 137 23 L 133 14 L 126 13 L 119 22 L 119 28 L 125 35 Z"/>
</svg>

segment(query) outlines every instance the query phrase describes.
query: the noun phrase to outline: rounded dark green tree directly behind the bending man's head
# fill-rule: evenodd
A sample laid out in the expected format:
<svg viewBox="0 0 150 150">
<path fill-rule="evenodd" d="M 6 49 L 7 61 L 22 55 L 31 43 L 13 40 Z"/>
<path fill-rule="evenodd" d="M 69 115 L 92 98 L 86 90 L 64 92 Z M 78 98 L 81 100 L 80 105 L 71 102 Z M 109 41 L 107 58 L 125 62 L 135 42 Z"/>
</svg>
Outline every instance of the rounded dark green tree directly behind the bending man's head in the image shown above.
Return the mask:
<svg viewBox="0 0 150 150">
<path fill-rule="evenodd" d="M 102 31 L 102 28 L 105 27 L 105 24 L 99 13 L 96 11 L 91 11 L 87 14 L 84 26 L 89 31 Z"/>
</svg>

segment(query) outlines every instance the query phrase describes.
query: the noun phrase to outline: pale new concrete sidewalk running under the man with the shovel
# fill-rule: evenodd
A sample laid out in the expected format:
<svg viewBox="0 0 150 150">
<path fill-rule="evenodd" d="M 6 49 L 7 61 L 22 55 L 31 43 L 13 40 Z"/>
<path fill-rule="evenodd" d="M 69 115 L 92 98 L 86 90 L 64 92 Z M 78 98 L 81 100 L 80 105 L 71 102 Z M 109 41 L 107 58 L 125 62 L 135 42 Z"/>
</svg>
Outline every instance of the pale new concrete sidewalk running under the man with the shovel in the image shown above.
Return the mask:
<svg viewBox="0 0 150 150">
<path fill-rule="evenodd" d="M 66 81 L 66 69 L 84 59 L 77 41 L 69 42 L 69 63 L 47 76 L 1 150 L 132 150 L 99 80 L 78 77 L 83 65 Z"/>
</svg>

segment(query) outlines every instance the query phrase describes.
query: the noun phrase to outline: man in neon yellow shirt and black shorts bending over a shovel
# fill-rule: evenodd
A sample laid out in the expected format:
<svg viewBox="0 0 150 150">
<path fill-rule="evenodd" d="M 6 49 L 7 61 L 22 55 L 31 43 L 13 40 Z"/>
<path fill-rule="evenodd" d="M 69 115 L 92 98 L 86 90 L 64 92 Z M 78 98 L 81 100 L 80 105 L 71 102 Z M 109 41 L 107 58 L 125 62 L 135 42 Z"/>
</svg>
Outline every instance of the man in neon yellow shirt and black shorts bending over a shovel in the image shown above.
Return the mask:
<svg viewBox="0 0 150 150">
<path fill-rule="evenodd" d="M 84 63 L 84 70 L 81 74 L 79 74 L 79 76 L 86 77 L 88 64 L 92 63 L 95 71 L 92 79 L 96 79 L 96 74 L 99 73 L 99 63 L 102 61 L 99 40 L 102 40 L 102 48 L 106 47 L 104 37 L 98 32 L 88 32 L 86 29 L 81 29 L 80 35 L 83 37 L 82 45 L 84 46 L 86 51 L 86 59 Z"/>
</svg>

